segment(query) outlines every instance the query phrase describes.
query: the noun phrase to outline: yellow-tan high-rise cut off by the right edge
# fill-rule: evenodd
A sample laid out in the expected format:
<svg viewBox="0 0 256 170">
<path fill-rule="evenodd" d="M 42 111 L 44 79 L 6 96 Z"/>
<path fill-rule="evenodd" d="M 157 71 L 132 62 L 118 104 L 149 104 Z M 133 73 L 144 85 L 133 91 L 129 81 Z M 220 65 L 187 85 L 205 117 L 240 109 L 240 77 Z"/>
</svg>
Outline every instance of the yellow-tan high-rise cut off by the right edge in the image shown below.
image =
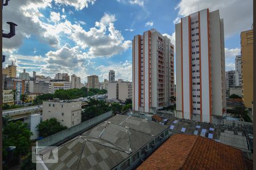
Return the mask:
<svg viewBox="0 0 256 170">
<path fill-rule="evenodd" d="M 253 102 L 253 29 L 241 32 L 242 95 L 245 107 Z"/>
</svg>

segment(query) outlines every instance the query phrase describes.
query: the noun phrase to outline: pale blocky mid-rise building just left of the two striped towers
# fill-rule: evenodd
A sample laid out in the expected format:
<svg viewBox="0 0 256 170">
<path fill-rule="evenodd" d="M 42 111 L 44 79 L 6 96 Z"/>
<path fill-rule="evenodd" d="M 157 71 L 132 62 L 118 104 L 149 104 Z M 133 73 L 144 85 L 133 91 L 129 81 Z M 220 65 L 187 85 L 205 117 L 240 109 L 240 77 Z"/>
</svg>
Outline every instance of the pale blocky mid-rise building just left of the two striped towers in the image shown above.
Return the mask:
<svg viewBox="0 0 256 170">
<path fill-rule="evenodd" d="M 132 84 L 131 82 L 124 82 L 118 79 L 117 82 L 110 82 L 108 84 L 108 99 L 118 99 L 125 102 L 126 99 L 132 97 Z"/>
</svg>

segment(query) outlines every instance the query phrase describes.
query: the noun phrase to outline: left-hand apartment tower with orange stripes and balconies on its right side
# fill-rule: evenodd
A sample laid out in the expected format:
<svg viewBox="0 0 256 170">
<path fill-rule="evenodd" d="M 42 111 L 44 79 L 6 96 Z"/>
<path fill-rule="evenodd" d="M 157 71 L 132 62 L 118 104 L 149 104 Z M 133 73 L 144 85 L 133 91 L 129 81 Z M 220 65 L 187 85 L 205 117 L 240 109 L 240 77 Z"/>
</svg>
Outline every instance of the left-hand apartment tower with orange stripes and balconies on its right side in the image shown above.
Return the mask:
<svg viewBox="0 0 256 170">
<path fill-rule="evenodd" d="M 155 29 L 133 39 L 133 111 L 155 113 L 174 96 L 174 45 Z"/>
</svg>

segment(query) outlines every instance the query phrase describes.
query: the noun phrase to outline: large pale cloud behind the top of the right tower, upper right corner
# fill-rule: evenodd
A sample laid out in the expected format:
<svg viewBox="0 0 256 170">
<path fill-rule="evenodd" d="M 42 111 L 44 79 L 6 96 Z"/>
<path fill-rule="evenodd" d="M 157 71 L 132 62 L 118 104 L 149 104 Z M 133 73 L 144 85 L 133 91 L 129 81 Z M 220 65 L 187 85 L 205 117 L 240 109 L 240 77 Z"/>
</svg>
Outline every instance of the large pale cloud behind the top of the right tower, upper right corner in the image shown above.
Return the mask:
<svg viewBox="0 0 256 170">
<path fill-rule="evenodd" d="M 222 0 L 181 0 L 175 7 L 179 16 L 187 16 L 197 9 L 209 8 L 210 12 L 220 10 L 220 17 L 224 19 L 225 36 L 230 37 L 246 29 L 250 29 L 253 23 L 253 0 L 225 1 Z"/>
</svg>

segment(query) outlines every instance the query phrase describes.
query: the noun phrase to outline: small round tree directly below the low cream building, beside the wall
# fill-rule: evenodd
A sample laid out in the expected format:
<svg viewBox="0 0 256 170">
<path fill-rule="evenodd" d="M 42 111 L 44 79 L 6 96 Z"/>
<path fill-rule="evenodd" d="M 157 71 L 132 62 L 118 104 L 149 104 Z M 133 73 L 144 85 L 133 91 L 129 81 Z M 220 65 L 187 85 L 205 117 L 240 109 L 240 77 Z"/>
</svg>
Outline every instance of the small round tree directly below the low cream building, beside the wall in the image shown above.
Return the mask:
<svg viewBox="0 0 256 170">
<path fill-rule="evenodd" d="M 36 128 L 38 128 L 40 137 L 48 137 L 49 135 L 67 129 L 67 127 L 61 125 L 56 118 L 47 119 L 36 126 Z"/>
</svg>

